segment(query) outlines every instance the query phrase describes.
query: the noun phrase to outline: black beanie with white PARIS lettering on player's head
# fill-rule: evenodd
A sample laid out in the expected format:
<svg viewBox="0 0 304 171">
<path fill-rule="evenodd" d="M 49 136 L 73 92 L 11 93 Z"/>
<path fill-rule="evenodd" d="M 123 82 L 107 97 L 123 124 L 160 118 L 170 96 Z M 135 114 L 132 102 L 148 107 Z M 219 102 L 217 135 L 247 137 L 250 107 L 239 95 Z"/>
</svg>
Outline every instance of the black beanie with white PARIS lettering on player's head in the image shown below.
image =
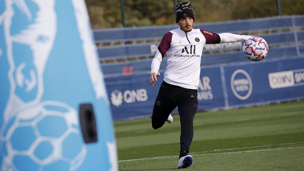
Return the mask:
<svg viewBox="0 0 304 171">
<path fill-rule="evenodd" d="M 176 5 L 176 22 L 181 18 L 192 17 L 194 21 L 194 12 L 190 2 L 182 2 Z"/>
</svg>

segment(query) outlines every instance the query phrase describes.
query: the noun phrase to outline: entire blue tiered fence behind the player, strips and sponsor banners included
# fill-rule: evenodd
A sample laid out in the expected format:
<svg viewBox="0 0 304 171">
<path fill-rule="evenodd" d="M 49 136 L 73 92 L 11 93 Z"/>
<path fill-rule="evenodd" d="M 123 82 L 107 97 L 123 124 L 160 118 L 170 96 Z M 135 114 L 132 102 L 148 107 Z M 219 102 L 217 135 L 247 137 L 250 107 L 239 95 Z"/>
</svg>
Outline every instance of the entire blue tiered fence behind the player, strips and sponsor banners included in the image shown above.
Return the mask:
<svg viewBox="0 0 304 171">
<path fill-rule="evenodd" d="M 94 30 L 97 43 L 159 40 L 177 26 Z M 263 37 L 270 46 L 259 62 L 247 60 L 242 42 L 206 45 L 201 60 L 198 110 L 227 109 L 302 99 L 304 97 L 304 15 L 229 22 L 197 23 L 212 32 L 245 33 Z M 248 30 L 250 28 L 250 30 Z M 147 34 L 148 33 L 148 34 Z M 101 60 L 154 56 L 159 42 L 98 47 Z M 227 52 L 229 51 L 229 52 Z M 113 118 L 151 115 L 163 80 L 149 82 L 151 58 L 102 63 Z M 164 57 L 160 72 L 167 66 Z M 177 112 L 177 110 L 175 110 Z"/>
</svg>

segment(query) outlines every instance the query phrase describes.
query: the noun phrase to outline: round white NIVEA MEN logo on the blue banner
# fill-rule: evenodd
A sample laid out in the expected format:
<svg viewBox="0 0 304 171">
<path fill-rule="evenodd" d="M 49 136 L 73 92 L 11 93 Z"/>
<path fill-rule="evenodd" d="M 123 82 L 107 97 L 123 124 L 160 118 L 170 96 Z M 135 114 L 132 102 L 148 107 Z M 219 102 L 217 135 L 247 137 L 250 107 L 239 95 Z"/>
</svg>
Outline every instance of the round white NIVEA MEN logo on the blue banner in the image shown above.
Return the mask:
<svg viewBox="0 0 304 171">
<path fill-rule="evenodd" d="M 252 93 L 252 81 L 249 74 L 244 70 L 236 70 L 231 76 L 231 89 L 233 94 L 240 100 L 246 100 Z"/>
</svg>

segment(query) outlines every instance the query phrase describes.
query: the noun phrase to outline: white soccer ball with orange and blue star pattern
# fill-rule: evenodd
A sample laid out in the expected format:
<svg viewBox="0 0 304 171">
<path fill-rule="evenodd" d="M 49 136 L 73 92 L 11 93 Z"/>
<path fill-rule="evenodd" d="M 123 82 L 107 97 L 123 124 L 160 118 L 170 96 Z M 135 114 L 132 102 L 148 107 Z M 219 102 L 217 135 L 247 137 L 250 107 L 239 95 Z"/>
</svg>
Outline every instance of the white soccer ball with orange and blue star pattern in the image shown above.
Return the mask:
<svg viewBox="0 0 304 171">
<path fill-rule="evenodd" d="M 259 61 L 264 59 L 268 54 L 268 44 L 261 37 L 251 37 L 244 43 L 243 52 L 247 59 Z"/>
</svg>

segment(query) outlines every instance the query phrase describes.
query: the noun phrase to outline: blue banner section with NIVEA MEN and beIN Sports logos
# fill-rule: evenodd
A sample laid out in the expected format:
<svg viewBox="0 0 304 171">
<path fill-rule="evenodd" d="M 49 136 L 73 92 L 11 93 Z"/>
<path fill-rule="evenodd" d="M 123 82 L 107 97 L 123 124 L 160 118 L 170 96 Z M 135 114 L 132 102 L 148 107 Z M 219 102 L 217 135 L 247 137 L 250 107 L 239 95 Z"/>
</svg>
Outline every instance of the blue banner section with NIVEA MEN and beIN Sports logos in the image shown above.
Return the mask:
<svg viewBox="0 0 304 171">
<path fill-rule="evenodd" d="M 304 97 L 304 58 L 226 66 L 229 106 Z"/>
</svg>

